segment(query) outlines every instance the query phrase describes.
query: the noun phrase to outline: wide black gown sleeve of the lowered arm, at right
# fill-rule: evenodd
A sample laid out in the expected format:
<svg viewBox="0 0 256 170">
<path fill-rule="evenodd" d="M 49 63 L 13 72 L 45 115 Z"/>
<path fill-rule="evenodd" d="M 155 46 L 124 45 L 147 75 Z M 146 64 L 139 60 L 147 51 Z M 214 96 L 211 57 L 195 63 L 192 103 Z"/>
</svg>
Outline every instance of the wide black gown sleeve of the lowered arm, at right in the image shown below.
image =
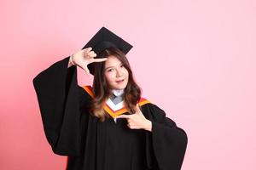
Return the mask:
<svg viewBox="0 0 256 170">
<path fill-rule="evenodd" d="M 177 127 L 175 122 L 166 117 L 165 111 L 162 111 L 157 105 L 149 104 L 149 112 L 152 132 L 148 132 L 146 135 L 148 167 L 152 168 L 156 163 L 160 170 L 181 169 L 188 143 L 187 134 L 182 128 Z"/>
</svg>

